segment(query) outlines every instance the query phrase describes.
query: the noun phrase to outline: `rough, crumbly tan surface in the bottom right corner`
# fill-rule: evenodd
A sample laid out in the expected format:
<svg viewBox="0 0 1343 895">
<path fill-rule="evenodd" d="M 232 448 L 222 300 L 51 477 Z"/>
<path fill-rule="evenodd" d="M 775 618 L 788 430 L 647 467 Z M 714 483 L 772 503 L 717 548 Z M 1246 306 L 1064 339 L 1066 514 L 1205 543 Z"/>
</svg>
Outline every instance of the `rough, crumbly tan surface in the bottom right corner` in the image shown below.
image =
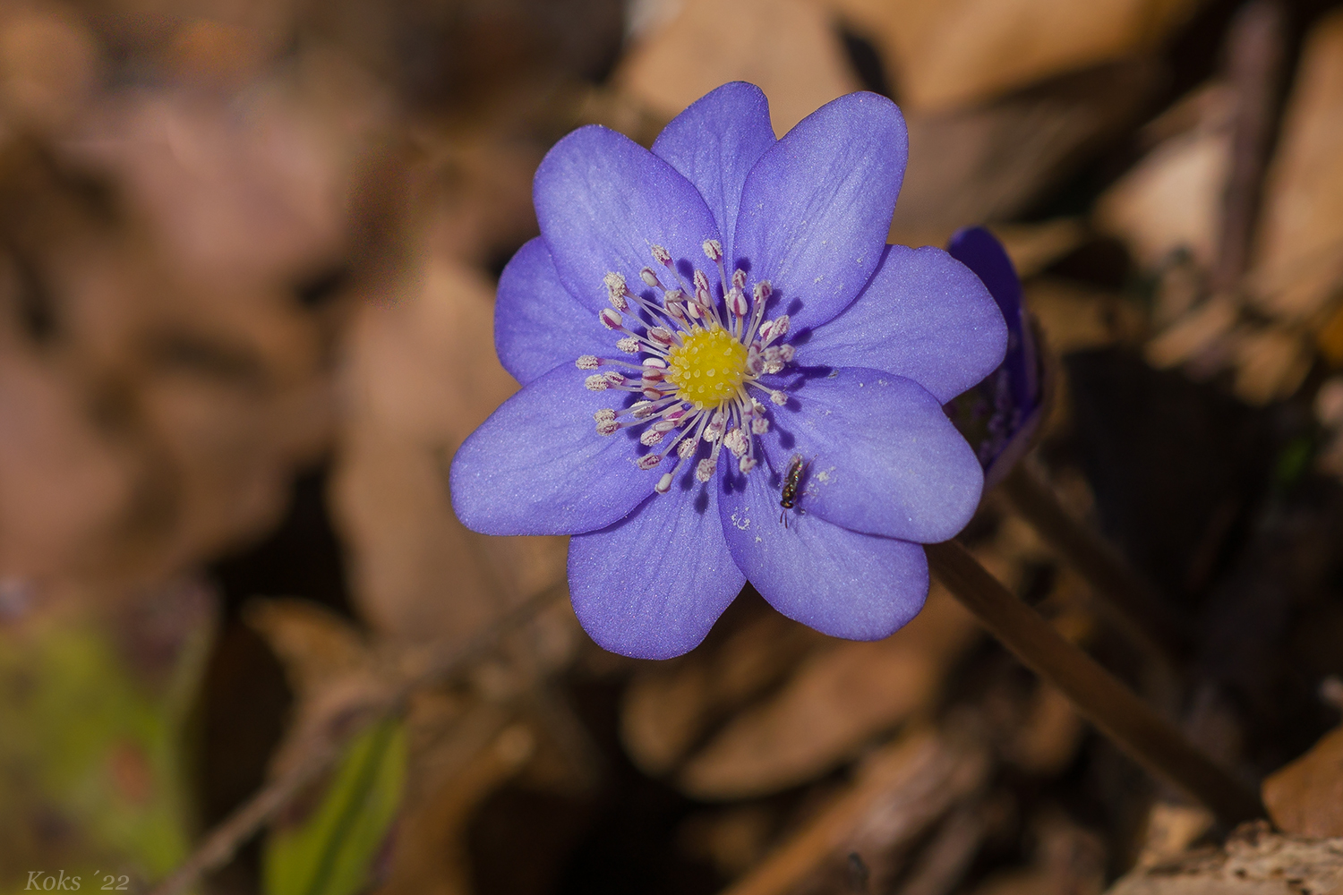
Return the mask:
<svg viewBox="0 0 1343 895">
<path fill-rule="evenodd" d="M 1246 825 L 1222 849 L 1132 871 L 1107 895 L 1332 895 L 1343 886 L 1343 839 L 1276 836 Z"/>
</svg>

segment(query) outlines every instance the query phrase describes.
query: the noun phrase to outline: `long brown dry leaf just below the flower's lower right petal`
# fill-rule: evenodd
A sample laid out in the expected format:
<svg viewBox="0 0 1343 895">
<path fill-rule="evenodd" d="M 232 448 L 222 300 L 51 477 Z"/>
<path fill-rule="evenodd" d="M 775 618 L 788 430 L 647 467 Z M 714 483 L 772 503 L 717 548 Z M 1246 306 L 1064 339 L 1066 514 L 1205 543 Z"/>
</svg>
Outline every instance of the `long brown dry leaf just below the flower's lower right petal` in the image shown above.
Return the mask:
<svg viewBox="0 0 1343 895">
<path fill-rule="evenodd" d="M 686 765 L 681 788 L 697 798 L 744 798 L 830 770 L 929 708 L 975 632 L 970 613 L 933 586 L 923 612 L 890 637 L 811 653 L 776 696 L 739 713 Z"/>
</svg>

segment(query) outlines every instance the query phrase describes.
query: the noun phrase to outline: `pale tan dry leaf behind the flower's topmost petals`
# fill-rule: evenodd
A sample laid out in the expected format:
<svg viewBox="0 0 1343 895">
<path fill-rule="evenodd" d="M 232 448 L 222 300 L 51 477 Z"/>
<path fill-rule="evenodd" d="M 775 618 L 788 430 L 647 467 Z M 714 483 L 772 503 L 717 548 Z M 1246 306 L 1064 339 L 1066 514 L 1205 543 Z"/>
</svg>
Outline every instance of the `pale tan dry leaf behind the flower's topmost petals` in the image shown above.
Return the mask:
<svg viewBox="0 0 1343 895">
<path fill-rule="evenodd" d="M 830 13 L 813 0 L 686 0 L 626 55 L 615 81 L 665 119 L 720 85 L 749 81 L 770 98 L 778 134 L 858 90 Z"/>
</svg>

